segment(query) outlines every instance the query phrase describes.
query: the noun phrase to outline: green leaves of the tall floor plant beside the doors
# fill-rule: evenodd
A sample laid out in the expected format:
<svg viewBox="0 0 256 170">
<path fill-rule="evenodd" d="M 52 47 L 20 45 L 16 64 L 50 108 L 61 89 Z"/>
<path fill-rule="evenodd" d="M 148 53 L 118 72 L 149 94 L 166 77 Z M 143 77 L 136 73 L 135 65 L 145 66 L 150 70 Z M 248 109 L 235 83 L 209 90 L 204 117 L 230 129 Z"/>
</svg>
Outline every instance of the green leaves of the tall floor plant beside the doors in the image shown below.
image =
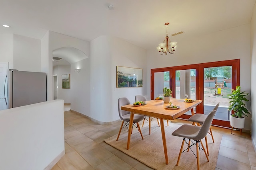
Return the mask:
<svg viewBox="0 0 256 170">
<path fill-rule="evenodd" d="M 229 94 L 230 106 L 228 107 L 229 111 L 234 111 L 232 114 L 233 117 L 241 118 L 242 115 L 247 116 L 246 114 L 250 114 L 249 111 L 246 109 L 246 106 L 243 101 L 248 102 L 249 100 L 246 99 L 244 96 L 247 96 L 248 93 L 240 92 L 240 86 L 236 86 L 236 90 L 232 89 L 232 94 Z"/>
</svg>

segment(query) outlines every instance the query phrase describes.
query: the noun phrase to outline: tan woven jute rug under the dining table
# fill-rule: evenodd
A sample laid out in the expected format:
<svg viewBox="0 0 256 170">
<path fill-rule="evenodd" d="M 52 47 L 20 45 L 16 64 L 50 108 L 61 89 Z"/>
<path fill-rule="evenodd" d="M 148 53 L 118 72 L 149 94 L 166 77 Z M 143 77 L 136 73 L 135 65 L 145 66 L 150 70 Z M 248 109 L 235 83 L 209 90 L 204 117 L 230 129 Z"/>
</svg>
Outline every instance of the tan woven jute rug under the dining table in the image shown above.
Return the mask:
<svg viewBox="0 0 256 170">
<path fill-rule="evenodd" d="M 150 135 L 148 134 L 148 126 L 144 125 L 144 127 L 141 128 L 144 140 L 142 140 L 138 129 L 134 128 L 131 135 L 130 148 L 128 150 L 126 149 L 128 131 L 122 132 L 118 141 L 116 141 L 117 135 L 105 139 L 104 141 L 156 170 L 196 170 L 196 157 L 193 154 L 193 152 L 196 154 L 195 145 L 192 147 L 193 152 L 189 150 L 189 152 L 185 151 L 181 154 L 180 162 L 178 166 L 176 166 L 183 138 L 172 136 L 172 132 L 178 127 L 180 127 L 179 124 L 169 123 L 169 126 L 165 126 L 164 128 L 168 150 L 168 165 L 164 157 L 161 129 L 157 125 L 151 127 Z M 215 143 L 212 143 L 212 138 L 209 134 L 207 135 L 210 155 L 209 162 L 206 159 L 204 151 L 199 151 L 200 170 L 215 170 L 216 167 L 222 135 L 217 132 L 212 133 Z M 205 141 L 202 141 L 206 149 Z M 187 145 L 184 143 L 183 150 L 186 149 L 186 146 Z"/>
</svg>

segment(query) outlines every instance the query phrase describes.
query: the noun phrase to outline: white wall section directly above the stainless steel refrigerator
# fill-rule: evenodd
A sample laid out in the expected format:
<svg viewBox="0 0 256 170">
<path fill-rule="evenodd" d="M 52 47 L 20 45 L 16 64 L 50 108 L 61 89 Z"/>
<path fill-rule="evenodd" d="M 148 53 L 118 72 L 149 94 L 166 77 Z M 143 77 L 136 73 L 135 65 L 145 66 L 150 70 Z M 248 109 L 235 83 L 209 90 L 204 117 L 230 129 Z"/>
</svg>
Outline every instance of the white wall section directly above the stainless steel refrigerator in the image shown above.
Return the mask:
<svg viewBox="0 0 256 170">
<path fill-rule="evenodd" d="M 41 72 L 41 40 L 14 34 L 13 68 Z"/>
</svg>

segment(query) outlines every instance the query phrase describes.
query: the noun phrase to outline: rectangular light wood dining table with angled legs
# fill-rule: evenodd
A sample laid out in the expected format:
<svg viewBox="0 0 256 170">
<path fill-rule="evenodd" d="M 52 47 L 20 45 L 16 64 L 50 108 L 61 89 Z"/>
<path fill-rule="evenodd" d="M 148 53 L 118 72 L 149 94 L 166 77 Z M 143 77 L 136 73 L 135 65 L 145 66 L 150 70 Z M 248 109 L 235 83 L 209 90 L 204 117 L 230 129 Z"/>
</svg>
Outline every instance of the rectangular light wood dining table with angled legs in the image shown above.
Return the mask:
<svg viewBox="0 0 256 170">
<path fill-rule="evenodd" d="M 144 106 L 134 106 L 133 104 L 121 106 L 122 110 L 130 111 L 130 125 L 127 139 L 127 149 L 129 149 L 131 133 L 132 133 L 132 122 L 134 114 L 146 115 L 149 117 L 156 117 L 160 119 L 162 141 L 164 145 L 164 156 L 166 164 L 168 164 L 168 154 L 166 147 L 166 138 L 164 132 L 164 119 L 174 120 L 180 115 L 183 115 L 187 111 L 191 110 L 192 115 L 194 115 L 194 107 L 199 105 L 202 100 L 195 100 L 194 102 L 185 102 L 184 99 L 171 98 L 173 106 L 180 106 L 178 109 L 168 109 L 166 106 L 169 106 L 169 103 L 164 103 L 162 100 L 150 100 L 146 101 Z"/>
</svg>

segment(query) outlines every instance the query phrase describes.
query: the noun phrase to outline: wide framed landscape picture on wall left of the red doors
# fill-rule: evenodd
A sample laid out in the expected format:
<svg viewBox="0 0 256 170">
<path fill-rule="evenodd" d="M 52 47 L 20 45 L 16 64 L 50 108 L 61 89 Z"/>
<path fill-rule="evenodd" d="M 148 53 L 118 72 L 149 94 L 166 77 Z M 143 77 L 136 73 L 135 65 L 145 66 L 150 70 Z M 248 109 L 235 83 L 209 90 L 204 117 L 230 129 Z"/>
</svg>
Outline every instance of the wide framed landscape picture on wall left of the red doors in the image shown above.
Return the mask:
<svg viewBox="0 0 256 170">
<path fill-rule="evenodd" d="M 142 87 L 142 68 L 116 66 L 116 88 Z"/>
</svg>

